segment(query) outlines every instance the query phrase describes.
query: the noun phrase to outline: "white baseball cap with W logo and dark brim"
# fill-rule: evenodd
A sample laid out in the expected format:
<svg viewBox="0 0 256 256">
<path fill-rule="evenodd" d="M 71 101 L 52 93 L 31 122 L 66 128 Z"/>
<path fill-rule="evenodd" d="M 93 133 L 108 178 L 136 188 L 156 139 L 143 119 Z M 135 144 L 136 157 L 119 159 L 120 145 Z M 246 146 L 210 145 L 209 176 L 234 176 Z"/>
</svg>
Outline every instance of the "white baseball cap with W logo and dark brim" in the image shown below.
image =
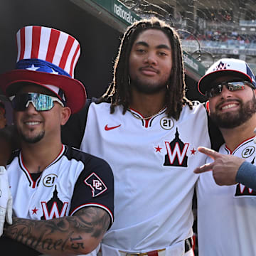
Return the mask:
<svg viewBox="0 0 256 256">
<path fill-rule="evenodd" d="M 211 82 L 224 75 L 233 75 L 236 78 L 249 81 L 256 89 L 255 75 L 244 60 L 222 58 L 211 65 L 206 74 L 199 80 L 198 91 L 205 95 L 206 90 L 211 87 Z"/>
</svg>

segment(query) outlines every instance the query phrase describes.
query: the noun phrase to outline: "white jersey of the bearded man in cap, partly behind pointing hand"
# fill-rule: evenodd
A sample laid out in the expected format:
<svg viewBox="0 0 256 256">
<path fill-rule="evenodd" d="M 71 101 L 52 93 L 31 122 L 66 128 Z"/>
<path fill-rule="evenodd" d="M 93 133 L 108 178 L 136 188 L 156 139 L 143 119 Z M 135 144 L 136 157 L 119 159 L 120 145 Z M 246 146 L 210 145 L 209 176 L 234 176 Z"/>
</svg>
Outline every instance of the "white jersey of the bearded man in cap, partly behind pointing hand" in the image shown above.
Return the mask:
<svg viewBox="0 0 256 256">
<path fill-rule="evenodd" d="M 223 145 L 220 153 L 255 164 L 253 138 L 242 142 L 233 152 Z M 255 256 L 256 191 L 240 183 L 218 186 L 209 171 L 200 175 L 197 193 L 199 255 Z"/>
</svg>

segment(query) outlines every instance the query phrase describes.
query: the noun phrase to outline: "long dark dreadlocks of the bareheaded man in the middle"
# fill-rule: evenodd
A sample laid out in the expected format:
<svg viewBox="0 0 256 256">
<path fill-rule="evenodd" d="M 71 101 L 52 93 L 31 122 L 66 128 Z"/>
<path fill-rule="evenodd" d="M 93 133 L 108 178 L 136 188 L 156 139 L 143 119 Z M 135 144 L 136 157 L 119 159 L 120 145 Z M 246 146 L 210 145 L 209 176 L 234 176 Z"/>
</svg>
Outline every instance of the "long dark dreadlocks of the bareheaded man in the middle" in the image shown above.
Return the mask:
<svg viewBox="0 0 256 256">
<path fill-rule="evenodd" d="M 129 108 L 131 102 L 131 86 L 129 85 L 129 55 L 134 44 L 142 31 L 147 29 L 158 29 L 163 31 L 169 38 L 172 50 L 173 67 L 169 81 L 166 85 L 166 114 L 168 117 L 174 117 L 176 120 L 181 114 L 183 105 L 187 104 L 192 108 L 192 102 L 185 97 L 185 75 L 183 68 L 183 58 L 181 50 L 181 41 L 178 33 L 166 22 L 159 18 L 146 18 L 137 21 L 127 28 L 124 33 L 119 53 L 114 62 L 114 77 L 106 92 L 100 98 L 100 102 L 110 102 L 110 113 L 114 113 L 114 107 L 123 106 L 123 114 Z"/>
</svg>

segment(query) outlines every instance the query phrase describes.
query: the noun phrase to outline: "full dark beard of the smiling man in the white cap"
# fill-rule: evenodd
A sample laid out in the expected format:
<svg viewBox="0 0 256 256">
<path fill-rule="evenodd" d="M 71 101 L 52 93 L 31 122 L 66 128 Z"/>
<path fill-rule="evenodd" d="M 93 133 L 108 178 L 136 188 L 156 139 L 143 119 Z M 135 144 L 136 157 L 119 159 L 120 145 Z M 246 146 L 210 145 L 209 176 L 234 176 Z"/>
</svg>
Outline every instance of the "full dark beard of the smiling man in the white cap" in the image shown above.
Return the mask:
<svg viewBox="0 0 256 256">
<path fill-rule="evenodd" d="M 240 100 L 239 100 L 240 102 Z M 256 112 L 256 99 L 255 96 L 252 97 L 252 100 L 242 103 L 240 102 L 240 110 L 238 113 L 225 113 L 218 114 L 216 112 L 210 113 L 210 118 L 213 122 L 220 128 L 232 129 L 240 126 L 249 120 L 253 114 Z"/>
</svg>

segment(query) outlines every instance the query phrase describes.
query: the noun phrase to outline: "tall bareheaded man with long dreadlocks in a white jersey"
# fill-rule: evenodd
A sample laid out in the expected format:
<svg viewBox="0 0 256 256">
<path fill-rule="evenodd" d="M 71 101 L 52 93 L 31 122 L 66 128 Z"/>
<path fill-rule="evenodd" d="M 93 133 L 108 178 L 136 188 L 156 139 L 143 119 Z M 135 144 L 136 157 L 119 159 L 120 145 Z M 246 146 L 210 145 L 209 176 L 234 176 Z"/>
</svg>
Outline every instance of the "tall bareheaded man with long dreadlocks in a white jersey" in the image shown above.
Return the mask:
<svg viewBox="0 0 256 256">
<path fill-rule="evenodd" d="M 210 138 L 205 108 L 184 91 L 178 34 L 156 18 L 139 21 L 124 33 L 107 92 L 63 134 L 66 142 L 84 132 L 73 145 L 114 172 L 115 220 L 102 256 L 193 255 L 193 169 Z"/>
</svg>

